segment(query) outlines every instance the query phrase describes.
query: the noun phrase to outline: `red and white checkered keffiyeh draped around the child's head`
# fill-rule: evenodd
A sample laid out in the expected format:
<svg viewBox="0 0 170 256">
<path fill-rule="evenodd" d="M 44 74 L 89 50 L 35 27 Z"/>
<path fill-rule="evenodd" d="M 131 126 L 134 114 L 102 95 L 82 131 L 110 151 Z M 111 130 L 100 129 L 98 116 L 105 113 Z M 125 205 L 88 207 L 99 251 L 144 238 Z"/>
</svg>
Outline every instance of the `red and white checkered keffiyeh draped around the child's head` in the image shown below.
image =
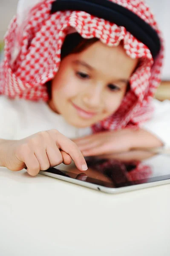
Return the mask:
<svg viewBox="0 0 170 256">
<path fill-rule="evenodd" d="M 164 50 L 161 32 L 149 7 L 143 0 L 110 0 L 134 12 L 157 31 L 162 45 L 154 63 L 150 50 L 126 28 L 81 11 L 56 12 L 51 15 L 53 1 L 35 0 L 33 5 L 32 0 L 27 0 L 30 8 L 24 18 L 18 14 L 12 20 L 5 36 L 5 57 L 0 67 L 0 94 L 10 98 L 47 101 L 44 84 L 53 79 L 58 71 L 61 46 L 71 27 L 83 38 L 96 37 L 108 46 L 117 46 L 123 41 L 127 55 L 141 58 L 141 64 L 130 79 L 130 90 L 120 108 L 109 118 L 94 125 L 94 132 L 138 126 L 149 119 L 152 113 L 150 102 L 160 83 Z"/>
</svg>

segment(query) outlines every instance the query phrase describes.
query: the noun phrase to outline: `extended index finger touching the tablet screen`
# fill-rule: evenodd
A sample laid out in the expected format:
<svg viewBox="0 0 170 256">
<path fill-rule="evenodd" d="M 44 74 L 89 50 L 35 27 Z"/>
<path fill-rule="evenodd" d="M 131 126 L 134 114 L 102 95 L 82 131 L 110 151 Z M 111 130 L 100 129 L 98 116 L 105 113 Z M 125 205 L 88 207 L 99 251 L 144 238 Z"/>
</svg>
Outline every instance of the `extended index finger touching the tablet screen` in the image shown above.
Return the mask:
<svg viewBox="0 0 170 256">
<path fill-rule="evenodd" d="M 56 135 L 56 144 L 59 149 L 69 154 L 69 156 L 74 161 L 75 166 L 80 171 L 84 172 L 88 169 L 83 154 L 79 150 L 78 146 L 74 142 L 72 142 L 72 140 L 69 140 L 63 134 L 58 134 Z"/>
</svg>

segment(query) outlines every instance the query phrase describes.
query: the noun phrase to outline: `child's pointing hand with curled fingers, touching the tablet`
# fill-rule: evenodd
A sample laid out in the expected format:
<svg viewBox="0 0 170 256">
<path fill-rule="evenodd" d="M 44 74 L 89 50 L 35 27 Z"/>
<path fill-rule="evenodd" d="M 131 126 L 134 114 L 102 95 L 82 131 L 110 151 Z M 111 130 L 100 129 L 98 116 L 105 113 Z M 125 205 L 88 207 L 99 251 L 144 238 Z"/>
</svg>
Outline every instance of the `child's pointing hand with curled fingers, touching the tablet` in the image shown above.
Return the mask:
<svg viewBox="0 0 170 256">
<path fill-rule="evenodd" d="M 42 131 L 22 140 L 4 140 L 1 147 L 1 162 L 12 171 L 27 167 L 27 172 L 35 176 L 40 170 L 60 163 L 69 165 L 72 160 L 80 171 L 87 169 L 77 145 L 57 130 Z"/>
</svg>

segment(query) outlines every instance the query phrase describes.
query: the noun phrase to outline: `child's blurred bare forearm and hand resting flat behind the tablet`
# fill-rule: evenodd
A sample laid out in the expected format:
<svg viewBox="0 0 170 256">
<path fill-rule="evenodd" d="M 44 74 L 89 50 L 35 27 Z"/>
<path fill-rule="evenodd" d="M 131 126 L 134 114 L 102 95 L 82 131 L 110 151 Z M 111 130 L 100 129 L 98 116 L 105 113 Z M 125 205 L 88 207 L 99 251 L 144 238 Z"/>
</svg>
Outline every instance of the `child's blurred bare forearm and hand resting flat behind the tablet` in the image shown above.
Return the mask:
<svg viewBox="0 0 170 256">
<path fill-rule="evenodd" d="M 131 150 L 146 151 L 163 146 L 161 140 L 140 128 L 104 131 L 73 140 L 84 157 L 114 155 Z"/>
</svg>

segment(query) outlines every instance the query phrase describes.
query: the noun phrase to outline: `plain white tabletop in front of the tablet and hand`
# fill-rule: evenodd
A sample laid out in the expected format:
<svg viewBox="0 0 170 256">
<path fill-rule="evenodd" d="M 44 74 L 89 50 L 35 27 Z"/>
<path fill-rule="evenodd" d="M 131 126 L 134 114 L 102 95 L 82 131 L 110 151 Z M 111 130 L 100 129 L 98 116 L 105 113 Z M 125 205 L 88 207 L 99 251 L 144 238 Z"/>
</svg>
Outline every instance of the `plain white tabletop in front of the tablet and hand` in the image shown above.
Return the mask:
<svg viewBox="0 0 170 256">
<path fill-rule="evenodd" d="M 109 195 L 0 168 L 0 255 L 169 256 L 170 184 Z"/>
</svg>

